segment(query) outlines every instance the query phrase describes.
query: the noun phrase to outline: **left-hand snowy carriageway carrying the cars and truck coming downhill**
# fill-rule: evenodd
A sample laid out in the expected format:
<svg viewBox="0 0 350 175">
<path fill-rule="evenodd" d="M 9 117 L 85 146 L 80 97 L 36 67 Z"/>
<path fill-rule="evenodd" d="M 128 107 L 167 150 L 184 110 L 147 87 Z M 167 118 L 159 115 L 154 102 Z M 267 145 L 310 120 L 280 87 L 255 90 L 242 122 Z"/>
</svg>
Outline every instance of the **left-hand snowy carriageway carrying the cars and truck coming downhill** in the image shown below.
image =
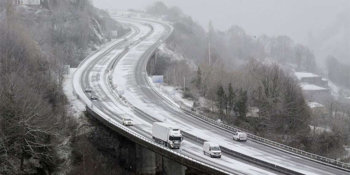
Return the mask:
<svg viewBox="0 0 350 175">
<path fill-rule="evenodd" d="M 128 21 L 124 21 L 128 22 Z M 133 38 L 139 38 L 146 35 L 151 29 L 141 23 L 134 23 L 136 28 L 132 29 Z M 137 28 L 140 30 L 138 31 Z M 159 28 L 155 28 L 155 32 L 142 42 L 148 44 L 154 44 L 159 40 L 154 40 L 154 37 L 160 36 Z M 132 37 L 130 37 L 132 38 Z M 116 40 L 107 45 L 105 48 L 101 49 L 96 55 L 89 58 L 74 74 L 73 85 L 76 92 L 79 94 L 82 100 L 92 105 L 95 110 L 105 116 L 111 117 L 113 120 L 121 123 L 122 118 L 128 117 L 134 120 L 134 126 L 127 127 L 128 129 L 143 135 L 148 139 L 152 139 L 152 120 L 146 118 L 145 116 L 135 112 L 133 109 L 125 107 L 119 103 L 118 100 L 114 99 L 114 94 L 109 90 L 107 82 L 108 73 L 106 73 L 107 65 L 113 60 L 113 58 L 118 55 L 123 48 L 131 42 L 132 39 L 128 41 Z M 142 44 L 140 43 L 142 47 Z M 139 45 L 132 47 L 130 54 L 136 54 L 133 49 L 138 48 Z M 143 52 L 139 52 L 142 55 Z M 129 54 L 129 55 L 130 55 Z M 123 59 L 126 57 L 123 57 Z M 125 60 L 125 59 L 124 59 Z M 117 65 L 121 64 L 119 61 Z M 123 72 L 127 70 L 117 70 L 116 72 Z M 117 83 L 118 84 L 118 83 Z M 92 86 L 93 92 L 97 94 L 98 100 L 90 100 L 90 93 L 84 92 L 85 86 Z M 198 152 L 198 149 L 202 149 L 202 145 L 199 142 L 185 138 L 184 147 L 182 153 L 191 156 L 195 159 L 210 163 L 219 168 L 229 170 L 237 174 L 244 175 L 254 175 L 254 174 L 280 174 L 269 170 L 265 167 L 257 166 L 255 164 L 245 162 L 241 159 L 237 159 L 232 155 L 223 154 L 221 159 L 212 159 L 207 155 L 203 155 L 202 151 Z"/>
</svg>

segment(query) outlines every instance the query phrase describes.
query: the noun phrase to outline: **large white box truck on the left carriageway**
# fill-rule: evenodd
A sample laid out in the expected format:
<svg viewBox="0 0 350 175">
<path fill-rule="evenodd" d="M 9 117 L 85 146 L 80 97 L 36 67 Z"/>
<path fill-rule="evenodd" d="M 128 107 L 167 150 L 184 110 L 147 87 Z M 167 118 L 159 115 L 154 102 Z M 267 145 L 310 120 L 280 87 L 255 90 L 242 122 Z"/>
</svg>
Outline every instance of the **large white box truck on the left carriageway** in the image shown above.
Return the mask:
<svg viewBox="0 0 350 175">
<path fill-rule="evenodd" d="M 163 122 L 153 122 L 152 139 L 168 148 L 180 149 L 183 137 L 178 127 Z"/>
</svg>

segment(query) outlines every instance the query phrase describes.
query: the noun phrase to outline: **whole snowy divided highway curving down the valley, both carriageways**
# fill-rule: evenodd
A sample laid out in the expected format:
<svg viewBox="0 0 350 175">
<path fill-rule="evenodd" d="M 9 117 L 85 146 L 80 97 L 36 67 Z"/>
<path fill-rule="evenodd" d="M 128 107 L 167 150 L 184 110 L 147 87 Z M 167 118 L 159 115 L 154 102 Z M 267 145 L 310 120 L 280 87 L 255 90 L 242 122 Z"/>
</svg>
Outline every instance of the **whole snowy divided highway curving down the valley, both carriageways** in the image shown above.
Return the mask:
<svg viewBox="0 0 350 175">
<path fill-rule="evenodd" d="M 144 25 L 144 23 L 147 22 L 153 26 L 153 33 L 139 44 L 131 47 L 130 50 L 120 58 L 115 69 L 111 72 L 113 84 L 118 85 L 118 90 L 124 90 L 124 96 L 131 104 L 154 118 L 159 120 L 164 120 L 166 118 L 167 123 L 175 124 L 179 126 L 181 130 L 196 135 L 197 137 L 215 141 L 237 152 L 303 174 L 348 174 L 342 170 L 292 156 L 291 154 L 277 151 L 276 149 L 263 146 L 250 140 L 244 143 L 233 141 L 231 133 L 219 130 L 210 124 L 194 119 L 168 104 L 149 88 L 145 68 L 147 59 L 158 44 L 168 37 L 170 31 L 172 31 L 172 27 L 167 23 L 154 20 L 116 19 L 125 23 L 129 23 L 130 20 L 133 21 L 133 26 L 131 27 L 132 33 L 128 36 L 129 40 L 124 41 L 123 39 L 119 39 L 108 44 L 95 55 L 87 59 L 74 74 L 73 85 L 75 91 L 85 103 L 92 105 L 94 109 L 97 109 L 100 113 L 111 117 L 119 123 L 121 123 L 122 118 L 132 118 L 134 120 L 134 126 L 127 128 L 146 138 L 152 139 L 153 120 L 135 112 L 135 110 L 130 107 L 122 105 L 116 100 L 116 98 L 114 98 L 115 94 L 111 92 L 107 84 L 109 73 L 106 73 L 108 72 L 108 70 L 106 70 L 107 66 L 123 51 L 125 46 L 151 31 L 151 28 Z M 165 31 L 169 31 L 168 34 Z M 98 97 L 97 100 L 90 100 L 90 93 L 84 92 L 85 86 L 93 87 L 93 92 L 96 93 Z M 200 142 L 190 140 L 186 137 L 183 142 L 182 153 L 237 174 L 280 174 L 225 153 L 223 153 L 221 159 L 210 158 L 208 155 L 203 155 L 202 144 Z"/>
</svg>

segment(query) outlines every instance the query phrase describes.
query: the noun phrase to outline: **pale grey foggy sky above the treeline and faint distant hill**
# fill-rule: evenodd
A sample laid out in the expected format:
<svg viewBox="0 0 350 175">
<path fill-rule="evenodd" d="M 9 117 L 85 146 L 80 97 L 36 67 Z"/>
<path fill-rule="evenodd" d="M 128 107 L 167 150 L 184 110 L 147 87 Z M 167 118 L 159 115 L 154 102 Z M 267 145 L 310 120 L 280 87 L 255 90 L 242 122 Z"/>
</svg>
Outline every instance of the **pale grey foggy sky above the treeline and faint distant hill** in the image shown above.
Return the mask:
<svg viewBox="0 0 350 175">
<path fill-rule="evenodd" d="M 93 0 L 98 8 L 145 10 L 156 0 Z M 288 35 L 306 44 L 307 34 L 317 35 L 332 24 L 336 15 L 350 6 L 349 0 L 163 0 L 168 6 L 180 7 L 184 14 L 207 28 L 226 30 L 242 26 L 249 35 Z M 349 22 L 349 21 L 345 21 Z"/>
</svg>

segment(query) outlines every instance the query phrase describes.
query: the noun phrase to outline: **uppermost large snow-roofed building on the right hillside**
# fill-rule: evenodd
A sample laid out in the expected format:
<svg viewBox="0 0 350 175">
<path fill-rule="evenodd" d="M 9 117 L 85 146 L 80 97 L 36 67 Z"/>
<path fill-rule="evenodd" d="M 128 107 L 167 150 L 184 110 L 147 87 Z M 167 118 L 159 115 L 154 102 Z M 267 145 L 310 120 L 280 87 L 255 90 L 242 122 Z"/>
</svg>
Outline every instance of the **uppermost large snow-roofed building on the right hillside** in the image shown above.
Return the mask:
<svg viewBox="0 0 350 175">
<path fill-rule="evenodd" d="M 328 88 L 328 80 L 323 79 L 321 76 L 318 76 L 310 72 L 295 72 L 295 76 L 299 79 L 301 83 L 314 84 L 317 86 Z"/>
</svg>

